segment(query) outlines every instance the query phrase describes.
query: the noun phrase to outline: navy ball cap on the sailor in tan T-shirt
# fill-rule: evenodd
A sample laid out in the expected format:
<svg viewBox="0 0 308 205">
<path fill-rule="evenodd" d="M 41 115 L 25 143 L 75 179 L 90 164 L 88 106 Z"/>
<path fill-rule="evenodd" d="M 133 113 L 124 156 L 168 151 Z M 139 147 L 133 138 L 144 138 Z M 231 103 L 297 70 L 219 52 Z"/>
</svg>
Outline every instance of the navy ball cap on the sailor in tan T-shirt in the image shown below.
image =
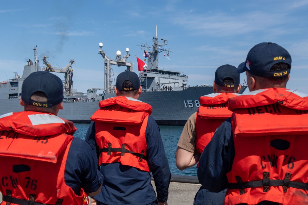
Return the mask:
<svg viewBox="0 0 308 205">
<path fill-rule="evenodd" d="M 234 84 L 225 84 L 223 83 L 225 78 L 232 78 Z M 217 85 L 223 86 L 223 87 L 236 87 L 240 84 L 240 74 L 237 73 L 236 67 L 233 65 L 222 65 L 217 68 L 215 72 L 215 80 L 214 82 Z"/>
</svg>

